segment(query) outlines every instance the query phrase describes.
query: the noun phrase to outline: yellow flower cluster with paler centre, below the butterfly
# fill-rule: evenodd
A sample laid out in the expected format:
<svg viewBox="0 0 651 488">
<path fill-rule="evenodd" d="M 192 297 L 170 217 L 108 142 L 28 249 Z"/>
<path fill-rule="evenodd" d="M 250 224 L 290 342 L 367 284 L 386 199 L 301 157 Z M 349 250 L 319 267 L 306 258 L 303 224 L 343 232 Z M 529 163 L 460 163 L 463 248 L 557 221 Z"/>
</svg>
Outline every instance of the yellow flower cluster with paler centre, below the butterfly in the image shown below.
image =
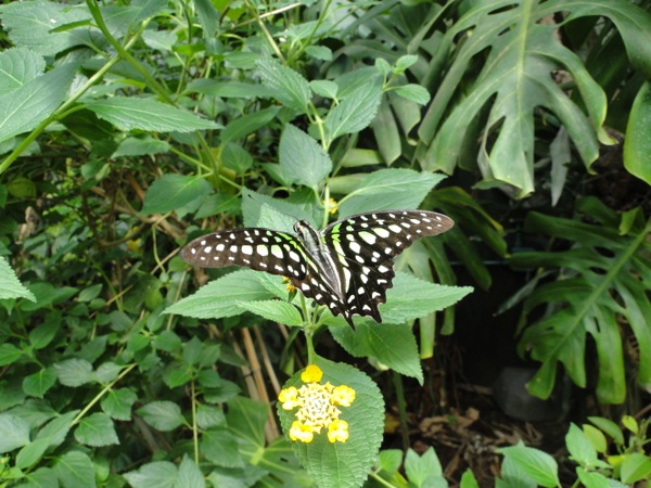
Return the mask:
<svg viewBox="0 0 651 488">
<path fill-rule="evenodd" d="M 328 428 L 328 440 L 345 442 L 348 440 L 348 423 L 340 420 L 342 413 L 337 406 L 350 407 L 355 400 L 355 390 L 346 385 L 333 386 L 330 382 L 319 382 L 323 372 L 316 364 L 308 365 L 301 374 L 305 383 L 301 388 L 290 386 L 278 395 L 284 410 L 296 411 L 296 420 L 290 428 L 290 438 L 302 442 L 311 442 L 315 433 Z"/>
</svg>

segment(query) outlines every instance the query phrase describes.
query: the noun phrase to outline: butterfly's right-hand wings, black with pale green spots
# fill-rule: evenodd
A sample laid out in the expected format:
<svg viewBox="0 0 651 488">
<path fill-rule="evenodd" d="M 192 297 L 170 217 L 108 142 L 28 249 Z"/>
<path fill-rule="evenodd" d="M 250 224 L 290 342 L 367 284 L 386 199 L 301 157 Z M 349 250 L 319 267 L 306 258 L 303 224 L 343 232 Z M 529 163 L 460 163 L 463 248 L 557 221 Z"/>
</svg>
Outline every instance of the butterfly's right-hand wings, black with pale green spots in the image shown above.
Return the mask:
<svg viewBox="0 0 651 488">
<path fill-rule="evenodd" d="M 382 322 L 378 306 L 386 301 L 386 290 L 393 285 L 394 257 L 413 241 L 441 234 L 454 224 L 435 211 L 386 210 L 354 215 L 323 229 L 327 246 L 343 267 L 348 313 Z"/>
</svg>

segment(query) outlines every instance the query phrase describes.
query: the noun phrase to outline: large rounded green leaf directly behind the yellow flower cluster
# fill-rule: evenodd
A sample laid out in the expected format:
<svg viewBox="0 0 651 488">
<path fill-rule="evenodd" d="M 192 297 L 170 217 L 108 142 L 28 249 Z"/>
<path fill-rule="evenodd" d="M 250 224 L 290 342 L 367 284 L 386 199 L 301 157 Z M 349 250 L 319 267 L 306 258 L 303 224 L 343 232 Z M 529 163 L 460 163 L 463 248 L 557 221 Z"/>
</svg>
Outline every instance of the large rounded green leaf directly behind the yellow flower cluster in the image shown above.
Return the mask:
<svg viewBox="0 0 651 488">
<path fill-rule="evenodd" d="M 322 429 L 320 434 L 315 434 L 309 444 L 293 441 L 294 453 L 319 487 L 358 487 L 367 478 L 382 441 L 382 395 L 370 377 L 348 364 L 317 358 L 317 365 L 323 371 L 322 384 L 347 385 L 356 393 L 350 407 L 340 408 L 340 419 L 348 423 L 349 437 L 346 442 L 331 444 L 326 429 Z M 299 387 L 302 384 L 301 372 L 297 372 L 283 387 Z M 279 403 L 278 416 L 288 435 L 295 420 L 295 411 L 283 410 Z"/>
</svg>

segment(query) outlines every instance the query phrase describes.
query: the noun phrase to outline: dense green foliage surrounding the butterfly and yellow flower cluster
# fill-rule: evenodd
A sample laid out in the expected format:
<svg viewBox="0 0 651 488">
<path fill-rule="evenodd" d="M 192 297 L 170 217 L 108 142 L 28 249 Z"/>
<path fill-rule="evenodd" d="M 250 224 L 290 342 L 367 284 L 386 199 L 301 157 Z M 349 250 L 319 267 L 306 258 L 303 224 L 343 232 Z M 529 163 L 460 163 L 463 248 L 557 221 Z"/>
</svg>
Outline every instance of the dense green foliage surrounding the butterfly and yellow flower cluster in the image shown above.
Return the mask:
<svg viewBox="0 0 651 488">
<path fill-rule="evenodd" d="M 408 437 L 462 418 L 409 391 L 439 391 L 473 288 L 518 311 L 518 344 L 483 347 L 533 362 L 531 394 L 589 398 L 562 459 L 493 452 L 495 486 L 649 479 L 650 8 L 1 5 L 0 487 L 483 485 Z M 381 324 L 177 256 L 391 208 L 456 226 L 396 260 Z M 490 262 L 522 270 L 506 300 Z M 308 363 L 356 391 L 345 442 L 289 438 L 277 397 Z"/>
</svg>

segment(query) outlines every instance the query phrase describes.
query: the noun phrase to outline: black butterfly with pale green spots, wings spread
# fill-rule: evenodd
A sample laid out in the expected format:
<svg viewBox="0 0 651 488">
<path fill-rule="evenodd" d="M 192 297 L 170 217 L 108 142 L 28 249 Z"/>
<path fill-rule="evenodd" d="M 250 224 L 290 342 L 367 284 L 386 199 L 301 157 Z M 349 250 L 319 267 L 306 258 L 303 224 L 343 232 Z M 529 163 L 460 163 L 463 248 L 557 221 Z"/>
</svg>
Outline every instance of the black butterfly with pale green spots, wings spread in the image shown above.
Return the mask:
<svg viewBox="0 0 651 488">
<path fill-rule="evenodd" d="M 296 235 L 264 228 L 215 232 L 190 242 L 181 257 L 202 268 L 237 265 L 280 274 L 350 325 L 354 314 L 381 323 L 378 307 L 393 285 L 393 259 L 417 239 L 441 234 L 454 224 L 435 211 L 370 211 L 321 231 L 298 220 Z"/>
</svg>

